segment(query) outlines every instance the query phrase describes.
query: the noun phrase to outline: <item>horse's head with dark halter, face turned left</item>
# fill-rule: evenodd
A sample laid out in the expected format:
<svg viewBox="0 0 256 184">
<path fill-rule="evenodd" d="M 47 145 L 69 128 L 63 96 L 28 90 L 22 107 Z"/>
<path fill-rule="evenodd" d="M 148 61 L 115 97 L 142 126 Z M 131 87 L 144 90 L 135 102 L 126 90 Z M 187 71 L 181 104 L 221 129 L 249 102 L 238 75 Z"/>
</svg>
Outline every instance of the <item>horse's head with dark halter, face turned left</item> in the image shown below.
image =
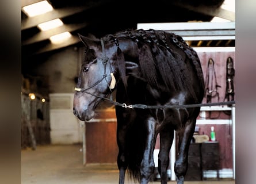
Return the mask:
<svg viewBox="0 0 256 184">
<path fill-rule="evenodd" d="M 75 88 L 73 111 L 75 116 L 84 121 L 93 118 L 94 110 L 102 97 L 106 97 L 114 89 L 116 68 L 112 60 L 114 52 L 102 40 L 81 35 L 79 37 L 86 50 Z"/>
</svg>

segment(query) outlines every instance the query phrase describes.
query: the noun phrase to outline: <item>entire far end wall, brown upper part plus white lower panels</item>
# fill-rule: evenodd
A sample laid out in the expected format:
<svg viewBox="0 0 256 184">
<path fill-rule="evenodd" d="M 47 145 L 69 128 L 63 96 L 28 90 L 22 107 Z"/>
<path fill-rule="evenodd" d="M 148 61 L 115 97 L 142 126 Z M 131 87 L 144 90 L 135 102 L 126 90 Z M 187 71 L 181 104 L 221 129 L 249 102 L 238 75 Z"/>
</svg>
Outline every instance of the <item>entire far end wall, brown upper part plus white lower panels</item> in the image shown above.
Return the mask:
<svg viewBox="0 0 256 184">
<path fill-rule="evenodd" d="M 31 63 L 32 76 L 44 79 L 49 89 L 52 144 L 82 143 L 81 121 L 73 114 L 75 77 L 81 67 L 83 48 L 66 47 Z M 40 64 L 39 64 L 40 63 Z"/>
</svg>

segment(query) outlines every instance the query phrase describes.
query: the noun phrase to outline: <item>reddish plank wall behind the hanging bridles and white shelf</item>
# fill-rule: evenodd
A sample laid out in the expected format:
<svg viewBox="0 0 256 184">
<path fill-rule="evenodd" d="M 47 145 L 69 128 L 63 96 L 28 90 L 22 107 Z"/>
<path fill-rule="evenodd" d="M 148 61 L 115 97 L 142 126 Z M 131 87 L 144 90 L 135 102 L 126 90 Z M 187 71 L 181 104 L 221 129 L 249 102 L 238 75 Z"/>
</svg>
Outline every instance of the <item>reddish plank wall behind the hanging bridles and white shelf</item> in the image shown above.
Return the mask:
<svg viewBox="0 0 256 184">
<path fill-rule="evenodd" d="M 202 70 L 204 77 L 207 71 L 207 64 L 209 58 L 212 58 L 215 62 L 215 71 L 217 77 L 217 83 L 221 87 L 218 89 L 220 102 L 224 101 L 226 93 L 226 62 L 228 57 L 232 57 L 235 68 L 235 51 L 230 52 L 197 52 L 200 57 L 202 64 Z M 235 78 L 234 78 L 235 86 Z M 206 102 L 206 98 L 203 99 Z M 212 98 L 212 102 L 218 102 L 217 97 Z M 227 113 L 227 112 L 226 112 Z M 204 132 L 205 135 L 210 135 L 211 127 L 215 127 L 216 140 L 220 144 L 220 167 L 221 168 L 232 168 L 232 125 L 231 124 L 217 124 L 217 120 L 231 119 L 231 114 L 227 115 L 224 112 L 217 111 L 206 114 L 207 119 L 216 120 L 216 124 L 198 125 L 200 128 L 199 133 Z M 230 112 L 229 112 L 230 113 Z M 200 119 L 200 117 L 198 117 Z"/>
</svg>

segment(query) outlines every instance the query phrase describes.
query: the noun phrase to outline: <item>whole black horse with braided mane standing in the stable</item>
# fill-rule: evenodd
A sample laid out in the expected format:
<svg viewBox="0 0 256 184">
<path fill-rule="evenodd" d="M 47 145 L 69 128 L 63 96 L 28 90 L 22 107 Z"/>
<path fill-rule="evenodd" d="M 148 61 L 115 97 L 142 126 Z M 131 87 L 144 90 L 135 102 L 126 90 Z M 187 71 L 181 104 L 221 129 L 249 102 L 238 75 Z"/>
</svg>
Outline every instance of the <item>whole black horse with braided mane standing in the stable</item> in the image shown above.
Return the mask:
<svg viewBox="0 0 256 184">
<path fill-rule="evenodd" d="M 119 183 L 124 183 L 126 170 L 134 181 L 151 181 L 158 133 L 158 171 L 161 183 L 167 183 L 174 130 L 178 135 L 174 171 L 177 183 L 184 183 L 200 107 L 164 107 L 202 102 L 204 77 L 197 53 L 182 37 L 161 30 L 124 30 L 101 39 L 79 37 L 86 49 L 75 88 L 74 114 L 82 121 L 90 120 L 99 102 L 116 89 Z"/>
</svg>

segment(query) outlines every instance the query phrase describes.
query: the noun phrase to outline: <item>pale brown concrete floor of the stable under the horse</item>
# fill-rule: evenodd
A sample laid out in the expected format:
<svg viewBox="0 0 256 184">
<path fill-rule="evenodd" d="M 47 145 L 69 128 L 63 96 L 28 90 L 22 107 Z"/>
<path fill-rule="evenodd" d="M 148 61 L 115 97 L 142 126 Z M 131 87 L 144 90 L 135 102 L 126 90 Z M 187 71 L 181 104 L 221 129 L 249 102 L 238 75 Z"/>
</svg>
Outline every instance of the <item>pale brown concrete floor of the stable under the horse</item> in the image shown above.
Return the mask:
<svg viewBox="0 0 256 184">
<path fill-rule="evenodd" d="M 21 150 L 21 183 L 30 184 L 85 184 L 118 183 L 116 163 L 88 164 L 83 166 L 81 145 L 44 145 Z M 134 183 L 126 179 L 125 183 Z M 151 182 L 160 183 L 160 182 Z M 170 181 L 168 183 L 175 184 Z M 185 181 L 184 184 L 235 184 L 226 181 Z"/>
</svg>

